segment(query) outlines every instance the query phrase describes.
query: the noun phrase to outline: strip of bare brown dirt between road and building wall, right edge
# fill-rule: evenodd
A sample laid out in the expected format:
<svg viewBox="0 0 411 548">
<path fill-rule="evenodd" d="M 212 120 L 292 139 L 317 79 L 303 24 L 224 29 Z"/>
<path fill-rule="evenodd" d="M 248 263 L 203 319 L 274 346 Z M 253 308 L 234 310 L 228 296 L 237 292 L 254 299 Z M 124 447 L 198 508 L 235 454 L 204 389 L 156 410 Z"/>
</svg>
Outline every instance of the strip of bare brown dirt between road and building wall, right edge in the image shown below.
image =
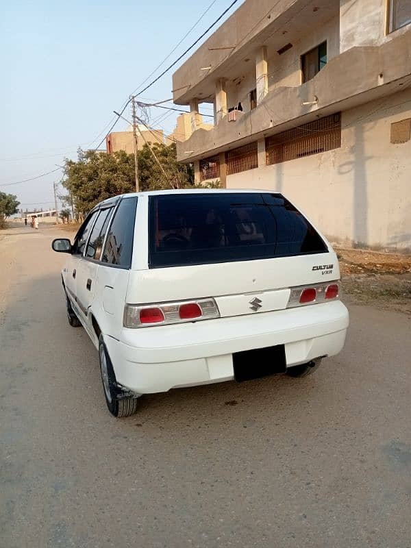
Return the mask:
<svg viewBox="0 0 411 548">
<path fill-rule="evenodd" d="M 343 299 L 411 314 L 411 256 L 334 246 Z"/>
</svg>

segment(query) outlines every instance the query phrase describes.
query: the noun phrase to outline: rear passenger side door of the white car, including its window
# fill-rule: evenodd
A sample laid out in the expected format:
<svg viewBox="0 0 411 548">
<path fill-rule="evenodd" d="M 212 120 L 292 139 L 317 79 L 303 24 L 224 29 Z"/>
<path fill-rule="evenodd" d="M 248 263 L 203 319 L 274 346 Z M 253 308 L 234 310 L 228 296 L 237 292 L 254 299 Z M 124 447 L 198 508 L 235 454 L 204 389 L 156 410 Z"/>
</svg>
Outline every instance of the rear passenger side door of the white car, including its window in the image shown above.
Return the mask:
<svg viewBox="0 0 411 548">
<path fill-rule="evenodd" d="M 97 211 L 92 228 L 89 231 L 84 253 L 77 266 L 77 304 L 82 313 L 84 327 L 89 331 L 92 338 L 94 337 L 94 332 L 92 330 L 89 310 L 95 298 L 103 240 L 108 223 L 110 222 L 112 210 L 113 208 L 108 206 L 105 208 L 101 207 Z"/>
</svg>

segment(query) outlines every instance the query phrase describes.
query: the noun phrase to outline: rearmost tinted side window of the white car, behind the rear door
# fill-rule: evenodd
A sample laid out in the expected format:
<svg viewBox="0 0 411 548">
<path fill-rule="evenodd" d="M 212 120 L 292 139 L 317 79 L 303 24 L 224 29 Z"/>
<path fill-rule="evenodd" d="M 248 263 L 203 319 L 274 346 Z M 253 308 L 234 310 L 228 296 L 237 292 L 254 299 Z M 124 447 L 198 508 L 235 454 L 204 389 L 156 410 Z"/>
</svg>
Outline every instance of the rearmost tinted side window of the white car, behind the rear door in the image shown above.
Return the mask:
<svg viewBox="0 0 411 548">
<path fill-rule="evenodd" d="M 120 202 L 108 232 L 102 262 L 124 269 L 131 266 L 136 206 L 137 198 L 125 198 Z"/>
</svg>

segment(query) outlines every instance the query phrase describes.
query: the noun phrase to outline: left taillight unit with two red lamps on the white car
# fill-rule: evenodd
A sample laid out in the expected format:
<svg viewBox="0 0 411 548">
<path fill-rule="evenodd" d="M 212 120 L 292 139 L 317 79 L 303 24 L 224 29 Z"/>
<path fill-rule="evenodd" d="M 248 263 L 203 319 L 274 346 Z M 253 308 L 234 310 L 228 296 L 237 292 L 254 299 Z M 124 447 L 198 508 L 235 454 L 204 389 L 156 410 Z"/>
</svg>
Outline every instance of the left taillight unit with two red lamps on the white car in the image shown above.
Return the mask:
<svg viewBox="0 0 411 548">
<path fill-rule="evenodd" d="M 123 325 L 131 328 L 149 327 L 150 325 L 169 325 L 219 317 L 219 308 L 211 298 L 149 306 L 126 304 Z"/>
</svg>

